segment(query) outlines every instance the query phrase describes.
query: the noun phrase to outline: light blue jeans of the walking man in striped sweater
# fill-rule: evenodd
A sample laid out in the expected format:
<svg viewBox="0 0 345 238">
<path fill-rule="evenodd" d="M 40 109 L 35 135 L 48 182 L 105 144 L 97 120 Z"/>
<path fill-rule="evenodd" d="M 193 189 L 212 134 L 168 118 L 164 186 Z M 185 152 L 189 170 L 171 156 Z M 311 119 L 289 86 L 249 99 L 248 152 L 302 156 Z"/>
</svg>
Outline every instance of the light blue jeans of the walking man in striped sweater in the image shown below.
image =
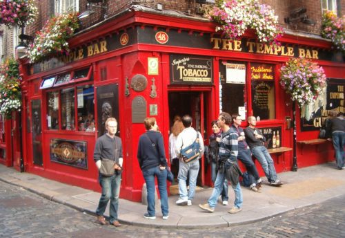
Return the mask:
<svg viewBox="0 0 345 238">
<path fill-rule="evenodd" d="M 226 180 L 225 174 L 218 172 L 217 178 L 215 181 L 215 187 L 213 188 L 212 194 L 211 194 L 210 198 L 208 199 L 208 205 L 210 205 L 210 208 L 215 208 L 215 206 L 217 205 L 217 201 L 218 201 L 219 195 L 221 193 L 221 187 L 222 187 L 222 185 L 224 185 L 224 180 Z M 233 190 L 235 192 L 234 205 L 237 208 L 241 208 L 242 203 L 243 203 L 241 186 L 239 185 L 239 183 L 237 183 L 237 185 L 232 184 L 231 187 L 233 187 Z"/>
</svg>

